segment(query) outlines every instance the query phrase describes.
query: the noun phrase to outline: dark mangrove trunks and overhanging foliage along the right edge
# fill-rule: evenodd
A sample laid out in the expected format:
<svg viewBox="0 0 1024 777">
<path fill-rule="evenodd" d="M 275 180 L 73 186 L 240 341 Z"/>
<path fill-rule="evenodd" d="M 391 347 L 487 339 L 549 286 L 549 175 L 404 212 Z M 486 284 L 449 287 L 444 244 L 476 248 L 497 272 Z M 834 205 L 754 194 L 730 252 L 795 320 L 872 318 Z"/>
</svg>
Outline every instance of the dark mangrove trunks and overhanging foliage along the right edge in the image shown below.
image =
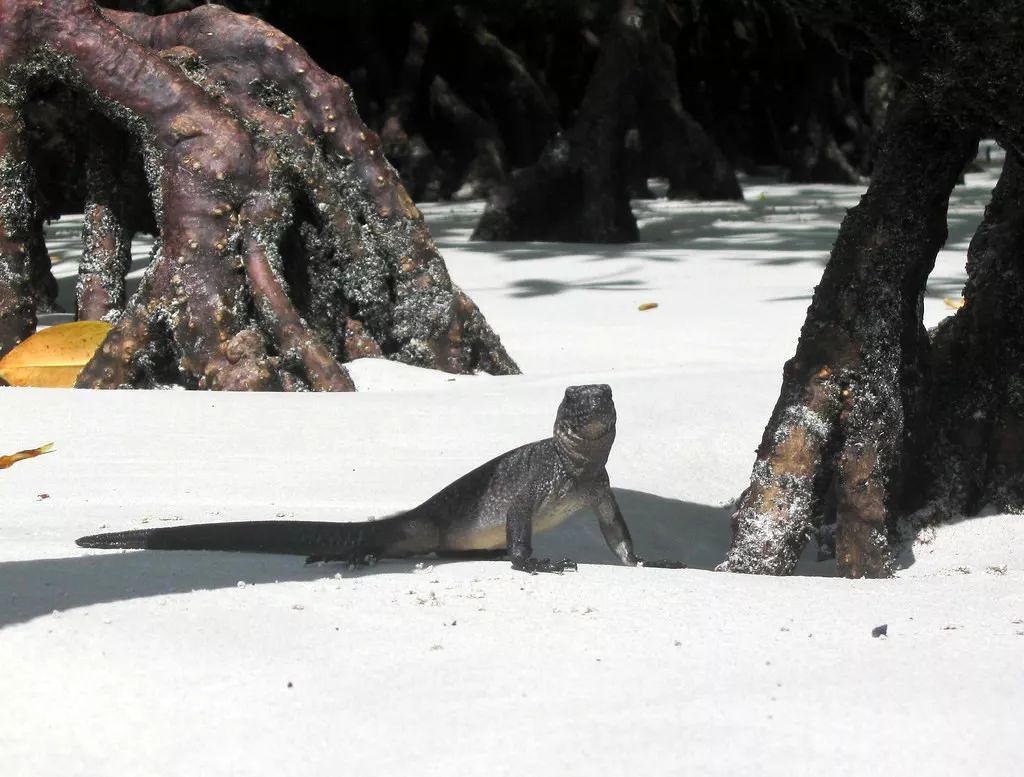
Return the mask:
<svg viewBox="0 0 1024 777">
<path fill-rule="evenodd" d="M 831 511 L 840 568 L 880 575 L 910 511 L 912 528 L 986 503 L 1024 508 L 1024 60 L 1014 23 L 1024 2 L 790 5 L 860 35 L 898 86 L 867 195 L 841 227 L 786 364 L 723 566 L 791 571 Z M 967 304 L 929 340 L 918 301 L 949 190 L 981 133 L 1000 140 L 1008 162 L 971 244 Z"/>
</svg>

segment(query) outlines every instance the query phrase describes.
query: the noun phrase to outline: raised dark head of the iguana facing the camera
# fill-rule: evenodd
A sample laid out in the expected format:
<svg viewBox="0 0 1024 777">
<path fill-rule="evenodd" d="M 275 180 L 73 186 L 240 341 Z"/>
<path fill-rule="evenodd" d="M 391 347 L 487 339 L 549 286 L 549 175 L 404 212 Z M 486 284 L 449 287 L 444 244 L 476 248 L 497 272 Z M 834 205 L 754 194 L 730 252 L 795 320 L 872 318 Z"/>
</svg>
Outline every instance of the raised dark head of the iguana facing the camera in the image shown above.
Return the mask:
<svg viewBox="0 0 1024 777">
<path fill-rule="evenodd" d="M 615 440 L 615 403 L 606 384 L 569 386 L 555 417 L 555 444 L 579 467 L 601 468 Z"/>
</svg>

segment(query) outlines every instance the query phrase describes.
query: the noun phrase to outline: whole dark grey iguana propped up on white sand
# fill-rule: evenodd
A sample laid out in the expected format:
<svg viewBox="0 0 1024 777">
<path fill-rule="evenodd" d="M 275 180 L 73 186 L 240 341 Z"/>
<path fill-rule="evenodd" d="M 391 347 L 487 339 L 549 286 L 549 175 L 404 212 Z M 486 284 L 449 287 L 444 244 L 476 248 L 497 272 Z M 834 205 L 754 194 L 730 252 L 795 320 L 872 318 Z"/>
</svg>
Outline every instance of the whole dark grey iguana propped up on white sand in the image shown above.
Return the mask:
<svg viewBox="0 0 1024 777">
<path fill-rule="evenodd" d="M 629 528 L 605 471 L 614 439 L 610 387 L 570 386 L 558 406 L 551 437 L 492 459 L 404 513 L 353 523 L 245 521 L 163 526 L 92 534 L 77 543 L 83 548 L 299 554 L 309 561 L 350 563 L 429 553 L 494 557 L 507 552 L 513 569 L 561 572 L 575 569 L 575 563 L 534 558 L 532 532 L 557 526 L 578 510 L 591 507 L 612 553 L 623 564 L 636 566 L 643 562 L 633 553 Z"/>
</svg>

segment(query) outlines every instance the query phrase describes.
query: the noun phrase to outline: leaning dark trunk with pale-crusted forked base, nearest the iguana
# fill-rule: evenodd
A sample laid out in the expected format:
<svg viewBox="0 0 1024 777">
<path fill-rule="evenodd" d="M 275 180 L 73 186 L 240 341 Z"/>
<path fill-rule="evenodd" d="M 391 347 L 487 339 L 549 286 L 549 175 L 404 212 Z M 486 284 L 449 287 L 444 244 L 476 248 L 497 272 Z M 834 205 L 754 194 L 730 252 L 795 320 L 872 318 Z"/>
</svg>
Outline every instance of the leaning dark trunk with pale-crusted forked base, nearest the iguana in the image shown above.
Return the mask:
<svg viewBox="0 0 1024 777">
<path fill-rule="evenodd" d="M 889 572 L 908 423 L 922 401 L 921 298 L 976 142 L 910 92 L 890 109 L 870 186 L 843 221 L 783 371 L 726 568 L 792 571 L 831 489 L 841 569 Z"/>
</svg>

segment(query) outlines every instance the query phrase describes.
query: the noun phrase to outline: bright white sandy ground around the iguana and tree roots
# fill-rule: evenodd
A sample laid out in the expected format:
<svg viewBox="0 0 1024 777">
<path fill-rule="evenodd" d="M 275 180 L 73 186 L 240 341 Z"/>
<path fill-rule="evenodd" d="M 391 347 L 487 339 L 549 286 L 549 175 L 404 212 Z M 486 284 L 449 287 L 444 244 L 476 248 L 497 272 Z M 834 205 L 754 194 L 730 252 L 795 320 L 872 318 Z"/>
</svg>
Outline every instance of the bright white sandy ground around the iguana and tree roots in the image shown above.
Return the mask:
<svg viewBox="0 0 1024 777">
<path fill-rule="evenodd" d="M 955 193 L 930 325 L 993 182 Z M 625 247 L 472 244 L 479 204 L 426 207 L 522 377 L 362 361 L 348 396 L 0 393 L 0 454 L 56 444 L 0 472 L 0 772 L 1018 773 L 1019 516 L 931 531 L 890 580 L 829 577 L 813 550 L 800 576 L 711 571 L 859 196 L 748 184 L 744 204 L 637 203 L 644 242 Z M 50 242 L 66 295 L 76 228 Z M 638 552 L 690 568 L 613 565 L 587 514 L 538 538 L 582 562 L 564 575 L 74 545 L 381 516 L 546 436 L 586 382 L 614 391 L 609 472 Z"/>
</svg>

